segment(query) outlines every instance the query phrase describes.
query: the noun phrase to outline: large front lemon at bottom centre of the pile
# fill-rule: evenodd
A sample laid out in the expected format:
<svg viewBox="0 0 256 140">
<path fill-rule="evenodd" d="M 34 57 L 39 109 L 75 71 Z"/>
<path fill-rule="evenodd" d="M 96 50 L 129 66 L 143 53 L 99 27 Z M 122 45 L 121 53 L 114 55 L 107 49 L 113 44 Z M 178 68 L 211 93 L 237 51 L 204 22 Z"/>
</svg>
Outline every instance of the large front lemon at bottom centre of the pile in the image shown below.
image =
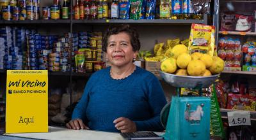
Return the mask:
<svg viewBox="0 0 256 140">
<path fill-rule="evenodd" d="M 201 60 L 191 60 L 187 70 L 191 76 L 201 76 L 205 72 L 205 65 Z"/>
</svg>

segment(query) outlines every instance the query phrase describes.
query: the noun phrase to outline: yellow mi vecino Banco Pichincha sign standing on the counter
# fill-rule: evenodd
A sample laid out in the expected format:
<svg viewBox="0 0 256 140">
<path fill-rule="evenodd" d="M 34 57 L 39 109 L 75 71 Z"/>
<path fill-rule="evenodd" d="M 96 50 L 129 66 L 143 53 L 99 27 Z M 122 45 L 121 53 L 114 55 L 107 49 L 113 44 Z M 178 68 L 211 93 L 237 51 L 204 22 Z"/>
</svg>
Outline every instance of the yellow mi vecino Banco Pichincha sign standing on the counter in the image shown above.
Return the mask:
<svg viewBox="0 0 256 140">
<path fill-rule="evenodd" d="M 47 71 L 10 70 L 6 80 L 6 133 L 48 132 Z"/>
</svg>

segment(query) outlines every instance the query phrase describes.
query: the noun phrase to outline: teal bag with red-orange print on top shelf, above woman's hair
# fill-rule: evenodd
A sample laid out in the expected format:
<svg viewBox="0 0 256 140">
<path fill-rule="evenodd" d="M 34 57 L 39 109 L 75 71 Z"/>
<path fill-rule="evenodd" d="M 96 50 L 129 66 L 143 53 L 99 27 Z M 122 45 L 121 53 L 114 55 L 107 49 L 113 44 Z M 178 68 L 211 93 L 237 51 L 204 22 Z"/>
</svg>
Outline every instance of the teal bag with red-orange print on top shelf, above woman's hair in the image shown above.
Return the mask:
<svg viewBox="0 0 256 140">
<path fill-rule="evenodd" d="M 130 3 L 131 3 L 130 19 L 134 19 L 134 20 L 140 19 L 142 0 L 131 0 Z"/>
</svg>

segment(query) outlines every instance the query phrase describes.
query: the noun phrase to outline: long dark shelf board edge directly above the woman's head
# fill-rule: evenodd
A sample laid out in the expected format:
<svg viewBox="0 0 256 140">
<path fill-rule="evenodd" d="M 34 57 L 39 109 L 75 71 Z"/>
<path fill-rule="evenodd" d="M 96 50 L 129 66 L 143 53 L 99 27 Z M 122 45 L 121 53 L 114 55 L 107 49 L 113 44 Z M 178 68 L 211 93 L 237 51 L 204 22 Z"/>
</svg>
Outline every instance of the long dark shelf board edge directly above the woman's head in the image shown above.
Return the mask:
<svg viewBox="0 0 256 140">
<path fill-rule="evenodd" d="M 168 20 L 168 19 L 154 19 L 154 20 L 73 20 L 74 24 L 207 24 L 207 20 Z"/>
</svg>

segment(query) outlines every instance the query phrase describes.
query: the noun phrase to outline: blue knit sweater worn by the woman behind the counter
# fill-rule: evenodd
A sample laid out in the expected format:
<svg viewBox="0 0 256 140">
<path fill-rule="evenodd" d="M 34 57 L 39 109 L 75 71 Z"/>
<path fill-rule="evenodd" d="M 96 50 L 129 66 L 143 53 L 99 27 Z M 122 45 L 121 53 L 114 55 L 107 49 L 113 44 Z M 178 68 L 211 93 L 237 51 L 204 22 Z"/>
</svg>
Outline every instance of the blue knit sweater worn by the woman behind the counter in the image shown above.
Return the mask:
<svg viewBox="0 0 256 140">
<path fill-rule="evenodd" d="M 160 112 L 166 104 L 163 88 L 154 74 L 136 67 L 123 80 L 111 78 L 110 67 L 92 74 L 72 114 L 92 130 L 120 132 L 113 121 L 126 117 L 137 130 L 161 131 Z"/>
</svg>

